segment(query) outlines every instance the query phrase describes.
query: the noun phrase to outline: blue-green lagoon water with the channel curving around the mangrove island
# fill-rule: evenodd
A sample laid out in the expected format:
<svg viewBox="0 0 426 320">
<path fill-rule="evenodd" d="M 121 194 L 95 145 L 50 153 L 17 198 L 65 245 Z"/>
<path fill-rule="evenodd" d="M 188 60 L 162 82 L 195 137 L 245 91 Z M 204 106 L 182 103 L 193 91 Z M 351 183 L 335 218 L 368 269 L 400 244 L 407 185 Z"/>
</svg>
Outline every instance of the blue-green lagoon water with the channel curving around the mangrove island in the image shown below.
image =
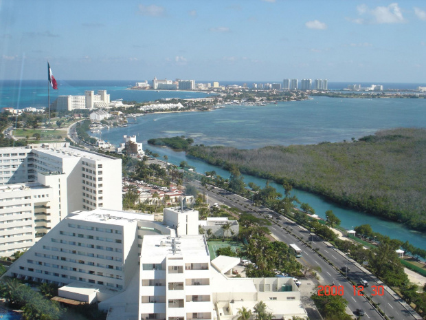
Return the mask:
<svg viewBox="0 0 426 320">
<path fill-rule="evenodd" d="M 179 164 L 185 160 L 197 172 L 216 171 L 223 177 L 229 173 L 205 162 L 187 158 L 185 153 L 146 144 L 150 138 L 187 136 L 194 143 L 226 145 L 238 149 L 253 149 L 267 145 L 306 145 L 322 141 L 350 141 L 374 134 L 379 129 L 395 127 L 425 127 L 426 101 L 424 99 L 356 99 L 315 97 L 313 100 L 278 103 L 259 107 L 232 106 L 206 112 L 149 114 L 138 117 L 128 127 L 103 130 L 102 139 L 117 145 L 122 136 L 135 135 L 144 149 L 168 156 L 168 162 Z M 245 175 L 245 182 L 264 186 L 266 180 Z M 284 193 L 282 186 L 273 184 Z M 323 198 L 295 190 L 301 202 L 309 203 L 317 215 L 325 217 L 327 210 L 341 220 L 341 226 L 352 228 L 371 224 L 374 231 L 414 246 L 426 248 L 426 235 L 409 231 L 401 224 L 388 222 L 368 213 L 354 211 L 330 203 Z"/>
</svg>

